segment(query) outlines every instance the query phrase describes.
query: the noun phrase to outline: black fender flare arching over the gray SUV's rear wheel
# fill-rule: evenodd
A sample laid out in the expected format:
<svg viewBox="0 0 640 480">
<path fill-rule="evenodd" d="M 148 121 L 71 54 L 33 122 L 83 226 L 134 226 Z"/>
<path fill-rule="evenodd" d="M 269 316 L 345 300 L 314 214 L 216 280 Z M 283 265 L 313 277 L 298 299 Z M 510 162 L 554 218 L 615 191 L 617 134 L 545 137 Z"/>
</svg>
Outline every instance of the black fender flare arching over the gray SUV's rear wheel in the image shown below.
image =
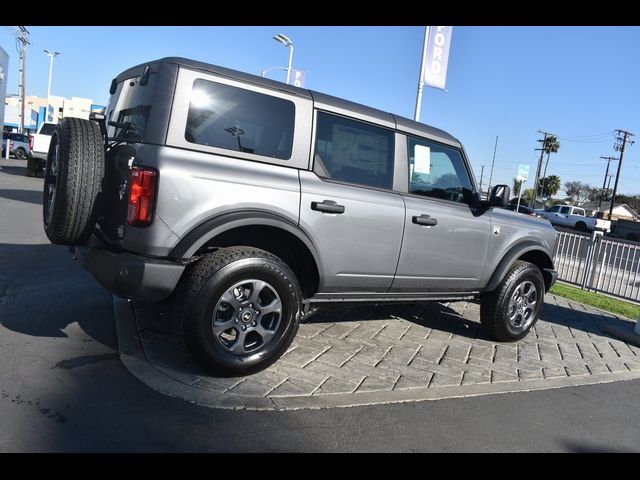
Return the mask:
<svg viewBox="0 0 640 480">
<path fill-rule="evenodd" d="M 311 252 L 313 260 L 316 263 L 318 274 L 322 278 L 322 263 L 318 249 L 313 244 L 309 236 L 294 222 L 288 218 L 276 215 L 271 212 L 261 210 L 243 210 L 236 212 L 227 212 L 213 218 L 209 218 L 197 227 L 194 227 L 184 237 L 180 239 L 178 244 L 173 247 L 169 256 L 176 259 L 191 258 L 200 247 L 206 244 L 212 238 L 237 227 L 249 225 L 265 225 L 280 228 L 300 240 Z"/>
</svg>

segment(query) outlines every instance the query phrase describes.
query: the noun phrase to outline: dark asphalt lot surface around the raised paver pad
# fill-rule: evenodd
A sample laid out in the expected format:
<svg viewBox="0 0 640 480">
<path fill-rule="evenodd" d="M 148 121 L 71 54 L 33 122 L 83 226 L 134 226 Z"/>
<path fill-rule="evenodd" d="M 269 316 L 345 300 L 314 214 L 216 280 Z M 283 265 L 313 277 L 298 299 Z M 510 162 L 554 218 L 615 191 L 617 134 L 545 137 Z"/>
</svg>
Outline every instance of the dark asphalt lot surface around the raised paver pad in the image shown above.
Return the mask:
<svg viewBox="0 0 640 480">
<path fill-rule="evenodd" d="M 638 449 L 639 380 L 290 411 L 210 408 L 158 393 L 120 361 L 111 295 L 48 243 L 42 179 L 27 178 L 25 163 L 0 160 L 2 452 Z M 579 319 L 562 318 L 563 328 L 585 332 Z M 463 312 L 451 321 L 475 320 Z M 456 334 L 433 327 L 435 336 Z M 594 363 L 635 365 L 632 349 L 611 348 Z"/>
</svg>

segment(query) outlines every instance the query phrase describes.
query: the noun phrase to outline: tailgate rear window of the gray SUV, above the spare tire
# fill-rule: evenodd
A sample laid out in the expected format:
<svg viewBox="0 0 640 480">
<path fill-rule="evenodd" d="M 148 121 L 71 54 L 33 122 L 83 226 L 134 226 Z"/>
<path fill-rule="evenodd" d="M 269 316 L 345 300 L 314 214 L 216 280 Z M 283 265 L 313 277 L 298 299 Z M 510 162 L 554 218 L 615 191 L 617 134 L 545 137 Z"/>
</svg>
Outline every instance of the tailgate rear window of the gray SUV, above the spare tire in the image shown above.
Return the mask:
<svg viewBox="0 0 640 480">
<path fill-rule="evenodd" d="M 111 98 L 107 116 L 107 133 L 110 140 L 142 142 L 151 114 L 151 104 L 156 87 L 156 75 L 151 75 L 146 85 L 140 85 L 140 77 L 129 78 L 118 84 Z"/>
</svg>

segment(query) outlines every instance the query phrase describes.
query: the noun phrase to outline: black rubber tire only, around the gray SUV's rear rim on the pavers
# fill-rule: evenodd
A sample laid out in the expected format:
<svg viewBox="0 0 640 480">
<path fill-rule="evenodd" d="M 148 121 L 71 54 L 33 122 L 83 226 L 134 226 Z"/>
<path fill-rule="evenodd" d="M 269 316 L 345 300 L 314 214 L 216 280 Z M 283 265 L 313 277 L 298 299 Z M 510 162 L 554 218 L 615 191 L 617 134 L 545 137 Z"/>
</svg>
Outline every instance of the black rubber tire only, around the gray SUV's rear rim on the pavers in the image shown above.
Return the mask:
<svg viewBox="0 0 640 480">
<path fill-rule="evenodd" d="M 216 338 L 213 315 L 222 295 L 248 279 L 263 280 L 274 287 L 283 308 L 277 333 L 270 341 L 241 355 L 225 349 Z M 216 376 L 247 375 L 268 367 L 284 354 L 298 331 L 302 298 L 298 280 L 286 263 L 257 248 L 229 247 L 205 255 L 187 267 L 174 298 L 187 349 L 200 366 Z M 237 323 L 234 328 L 239 328 Z"/>
</svg>

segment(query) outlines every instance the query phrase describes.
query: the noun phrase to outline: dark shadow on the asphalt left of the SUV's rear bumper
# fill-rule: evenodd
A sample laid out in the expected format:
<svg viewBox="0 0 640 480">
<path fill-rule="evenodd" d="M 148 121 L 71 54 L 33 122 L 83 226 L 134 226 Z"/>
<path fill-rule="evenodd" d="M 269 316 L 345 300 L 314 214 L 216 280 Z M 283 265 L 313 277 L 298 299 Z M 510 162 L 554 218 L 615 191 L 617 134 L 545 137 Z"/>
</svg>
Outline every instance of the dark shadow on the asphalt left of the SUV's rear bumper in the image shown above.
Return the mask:
<svg viewBox="0 0 640 480">
<path fill-rule="evenodd" d="M 117 349 L 113 304 L 64 246 L 0 244 L 0 323 L 34 337 L 67 337 L 77 322 L 89 337 Z"/>
</svg>

